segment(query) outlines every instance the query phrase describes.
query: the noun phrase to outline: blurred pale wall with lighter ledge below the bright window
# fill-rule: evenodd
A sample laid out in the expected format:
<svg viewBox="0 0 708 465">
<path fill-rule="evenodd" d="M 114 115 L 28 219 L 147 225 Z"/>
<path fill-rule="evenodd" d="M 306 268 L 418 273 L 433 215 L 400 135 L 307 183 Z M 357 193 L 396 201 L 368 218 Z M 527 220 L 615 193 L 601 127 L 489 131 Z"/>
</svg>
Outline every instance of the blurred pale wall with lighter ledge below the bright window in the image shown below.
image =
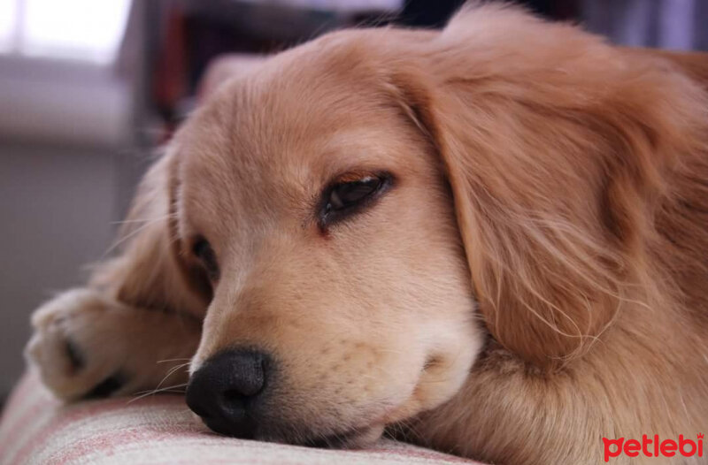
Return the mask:
<svg viewBox="0 0 708 465">
<path fill-rule="evenodd" d="M 111 67 L 0 55 L 0 398 L 32 310 L 112 241 L 140 167 L 133 103 Z"/>
</svg>

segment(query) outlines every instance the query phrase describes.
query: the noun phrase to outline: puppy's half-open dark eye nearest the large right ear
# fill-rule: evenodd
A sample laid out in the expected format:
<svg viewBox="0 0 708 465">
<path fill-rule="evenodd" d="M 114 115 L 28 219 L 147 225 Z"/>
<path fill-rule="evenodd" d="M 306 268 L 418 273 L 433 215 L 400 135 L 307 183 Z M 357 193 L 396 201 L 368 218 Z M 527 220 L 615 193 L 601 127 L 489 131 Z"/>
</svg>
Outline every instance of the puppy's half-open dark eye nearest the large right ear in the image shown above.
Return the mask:
<svg viewBox="0 0 708 465">
<path fill-rule="evenodd" d="M 389 182 L 390 176 L 381 174 L 335 183 L 325 192 L 320 225 L 332 223 L 336 219 L 366 206 L 389 185 Z"/>
</svg>

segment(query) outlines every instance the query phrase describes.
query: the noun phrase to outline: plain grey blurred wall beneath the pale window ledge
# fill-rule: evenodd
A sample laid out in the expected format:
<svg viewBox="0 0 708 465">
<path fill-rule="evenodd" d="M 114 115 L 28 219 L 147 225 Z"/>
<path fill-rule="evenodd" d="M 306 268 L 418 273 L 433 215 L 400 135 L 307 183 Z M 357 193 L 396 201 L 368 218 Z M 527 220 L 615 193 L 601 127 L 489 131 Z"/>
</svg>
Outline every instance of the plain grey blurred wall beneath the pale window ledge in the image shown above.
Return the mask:
<svg viewBox="0 0 708 465">
<path fill-rule="evenodd" d="M 0 142 L 0 395 L 24 368 L 29 315 L 81 284 L 112 240 L 119 157 Z"/>
</svg>

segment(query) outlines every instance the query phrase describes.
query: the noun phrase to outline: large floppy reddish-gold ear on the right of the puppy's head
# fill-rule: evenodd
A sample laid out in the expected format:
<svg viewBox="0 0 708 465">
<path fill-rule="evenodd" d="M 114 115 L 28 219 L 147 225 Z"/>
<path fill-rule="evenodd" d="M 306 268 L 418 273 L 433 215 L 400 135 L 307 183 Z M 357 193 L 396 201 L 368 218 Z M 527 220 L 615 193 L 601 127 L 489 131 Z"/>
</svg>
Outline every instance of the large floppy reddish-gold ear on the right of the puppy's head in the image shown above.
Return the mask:
<svg viewBox="0 0 708 465">
<path fill-rule="evenodd" d="M 463 11 L 408 53 L 389 87 L 442 159 L 492 336 L 558 367 L 620 309 L 656 304 L 645 292 L 652 217 L 663 174 L 695 149 L 700 89 L 494 6 Z"/>
</svg>

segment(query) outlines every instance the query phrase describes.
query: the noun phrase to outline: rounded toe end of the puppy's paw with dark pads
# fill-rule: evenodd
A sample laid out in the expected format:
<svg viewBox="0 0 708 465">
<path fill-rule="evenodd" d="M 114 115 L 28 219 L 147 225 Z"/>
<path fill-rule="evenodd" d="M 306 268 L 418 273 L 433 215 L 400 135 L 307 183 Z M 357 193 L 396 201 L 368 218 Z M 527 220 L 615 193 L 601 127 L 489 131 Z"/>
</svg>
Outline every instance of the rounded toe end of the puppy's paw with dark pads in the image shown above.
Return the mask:
<svg viewBox="0 0 708 465">
<path fill-rule="evenodd" d="M 125 310 L 90 289 L 61 293 L 32 316 L 27 361 L 61 399 L 123 392 L 129 335 L 117 324 Z"/>
</svg>

